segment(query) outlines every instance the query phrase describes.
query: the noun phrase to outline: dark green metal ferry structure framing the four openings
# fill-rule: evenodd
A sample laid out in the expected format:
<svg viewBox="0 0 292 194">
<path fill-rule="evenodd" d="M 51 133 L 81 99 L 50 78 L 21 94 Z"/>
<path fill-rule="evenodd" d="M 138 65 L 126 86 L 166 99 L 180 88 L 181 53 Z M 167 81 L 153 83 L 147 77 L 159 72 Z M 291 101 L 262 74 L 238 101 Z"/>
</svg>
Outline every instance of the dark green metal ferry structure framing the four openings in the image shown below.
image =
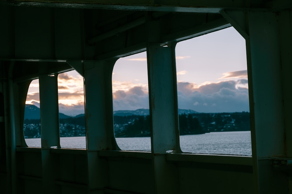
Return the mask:
<svg viewBox="0 0 292 194">
<path fill-rule="evenodd" d="M 1 0 L 1 193 L 292 193 L 291 8 L 290 0 Z M 175 45 L 230 26 L 246 40 L 252 156 L 183 153 Z M 151 152 L 123 151 L 112 70 L 142 51 Z M 60 147 L 57 75 L 69 70 L 84 77 L 86 149 Z M 40 148 L 23 134 L 33 79 Z"/>
</svg>

